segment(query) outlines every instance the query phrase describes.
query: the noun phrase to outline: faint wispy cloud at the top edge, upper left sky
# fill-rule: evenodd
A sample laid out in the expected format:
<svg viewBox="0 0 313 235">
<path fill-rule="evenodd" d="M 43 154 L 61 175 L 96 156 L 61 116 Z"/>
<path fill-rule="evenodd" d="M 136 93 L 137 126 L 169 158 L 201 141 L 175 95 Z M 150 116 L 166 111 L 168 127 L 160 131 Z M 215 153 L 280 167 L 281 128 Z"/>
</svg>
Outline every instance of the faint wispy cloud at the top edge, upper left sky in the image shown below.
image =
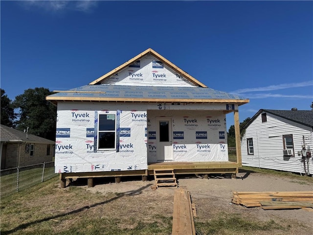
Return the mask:
<svg viewBox="0 0 313 235">
<path fill-rule="evenodd" d="M 97 1 L 94 0 L 27 0 L 22 1 L 26 9 L 39 8 L 49 12 L 61 12 L 66 10 L 89 12 L 96 6 Z"/>
</svg>

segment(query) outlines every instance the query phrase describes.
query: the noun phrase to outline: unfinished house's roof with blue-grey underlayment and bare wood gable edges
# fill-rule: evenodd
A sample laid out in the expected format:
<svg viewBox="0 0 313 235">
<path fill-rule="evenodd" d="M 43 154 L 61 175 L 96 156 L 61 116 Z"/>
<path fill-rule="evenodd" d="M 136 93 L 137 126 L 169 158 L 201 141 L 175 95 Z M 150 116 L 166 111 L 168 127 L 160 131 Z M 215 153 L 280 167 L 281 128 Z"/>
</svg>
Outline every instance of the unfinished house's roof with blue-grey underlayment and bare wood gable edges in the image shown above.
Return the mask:
<svg viewBox="0 0 313 235">
<path fill-rule="evenodd" d="M 190 86 L 171 86 L 157 84 L 157 86 L 147 86 L 145 84 L 133 85 L 133 83 L 116 84 L 106 83 L 105 79 L 110 79 L 114 74 L 134 66 L 140 58 L 153 56 L 160 63 L 165 64 L 169 69 L 180 74 Z M 157 61 L 158 62 L 158 61 Z M 140 66 L 140 65 L 139 65 Z M 153 66 L 153 65 L 152 65 Z M 152 71 L 155 72 L 155 71 Z M 131 73 L 132 74 L 132 73 Z M 141 74 L 141 73 L 140 73 Z M 141 74 L 142 75 L 142 74 Z M 165 76 L 164 76 L 165 77 Z M 165 79 L 166 80 L 166 79 Z M 68 91 L 54 91 L 56 94 L 46 96 L 46 100 L 57 105 L 58 101 L 87 101 L 87 102 L 184 102 L 184 103 L 219 103 L 219 104 L 238 104 L 248 103 L 249 100 L 234 94 L 213 90 L 182 71 L 177 66 L 159 55 L 156 51 L 149 48 L 133 59 L 127 61 L 116 69 L 99 77 L 89 85 L 73 88 Z M 225 106 L 226 107 L 226 106 Z"/>
</svg>

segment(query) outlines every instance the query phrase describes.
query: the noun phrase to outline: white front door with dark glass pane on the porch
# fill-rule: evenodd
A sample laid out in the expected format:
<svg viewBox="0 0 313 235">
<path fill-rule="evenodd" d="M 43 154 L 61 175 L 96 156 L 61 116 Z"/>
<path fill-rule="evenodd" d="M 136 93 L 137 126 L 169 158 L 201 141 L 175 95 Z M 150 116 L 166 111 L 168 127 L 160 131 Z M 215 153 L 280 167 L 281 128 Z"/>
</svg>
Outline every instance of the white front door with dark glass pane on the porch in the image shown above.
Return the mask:
<svg viewBox="0 0 313 235">
<path fill-rule="evenodd" d="M 158 162 L 173 160 L 172 133 L 172 118 L 156 118 L 156 156 Z"/>
</svg>

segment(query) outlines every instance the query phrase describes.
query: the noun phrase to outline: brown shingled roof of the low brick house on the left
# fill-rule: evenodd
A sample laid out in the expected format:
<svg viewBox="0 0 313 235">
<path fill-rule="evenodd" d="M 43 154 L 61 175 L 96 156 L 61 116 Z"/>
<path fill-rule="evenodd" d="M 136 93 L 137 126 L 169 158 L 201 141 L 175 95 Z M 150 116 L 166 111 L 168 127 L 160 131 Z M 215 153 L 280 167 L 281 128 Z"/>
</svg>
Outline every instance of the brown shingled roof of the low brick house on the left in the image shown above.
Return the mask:
<svg viewBox="0 0 313 235">
<path fill-rule="evenodd" d="M 50 141 L 32 134 L 27 134 L 26 138 L 26 133 L 8 126 L 4 126 L 2 124 L 0 125 L 0 132 L 1 132 L 0 135 L 1 142 L 32 142 L 32 143 L 55 144 L 54 141 Z"/>
</svg>

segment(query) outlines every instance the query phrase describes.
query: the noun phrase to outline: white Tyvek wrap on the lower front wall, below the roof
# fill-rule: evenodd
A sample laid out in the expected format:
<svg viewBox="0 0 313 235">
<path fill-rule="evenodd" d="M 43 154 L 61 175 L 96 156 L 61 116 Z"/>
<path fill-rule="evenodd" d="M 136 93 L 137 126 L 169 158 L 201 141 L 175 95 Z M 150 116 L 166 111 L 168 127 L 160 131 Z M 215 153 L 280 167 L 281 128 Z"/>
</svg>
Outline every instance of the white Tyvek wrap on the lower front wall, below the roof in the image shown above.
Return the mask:
<svg viewBox="0 0 313 235">
<path fill-rule="evenodd" d="M 147 169 L 157 162 L 156 140 L 149 138 L 156 117 L 173 118 L 173 161 L 227 161 L 224 106 L 59 102 L 55 172 Z M 114 150 L 95 150 L 98 114 L 119 116 Z"/>
</svg>

